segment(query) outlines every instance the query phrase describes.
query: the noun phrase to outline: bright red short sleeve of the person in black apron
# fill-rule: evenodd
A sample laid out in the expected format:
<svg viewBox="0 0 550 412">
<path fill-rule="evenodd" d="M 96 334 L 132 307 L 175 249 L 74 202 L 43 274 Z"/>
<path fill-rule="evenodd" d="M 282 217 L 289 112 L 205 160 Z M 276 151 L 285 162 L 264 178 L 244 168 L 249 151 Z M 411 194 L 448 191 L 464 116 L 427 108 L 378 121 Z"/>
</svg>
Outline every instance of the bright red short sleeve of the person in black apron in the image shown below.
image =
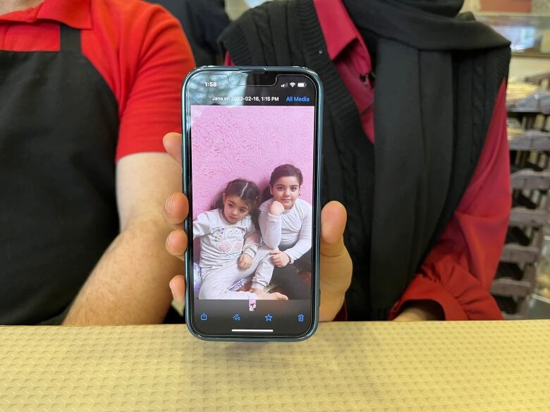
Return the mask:
<svg viewBox="0 0 550 412">
<path fill-rule="evenodd" d="M 181 85 L 195 67 L 181 25 L 159 6 L 135 13 L 121 51 L 127 73 L 117 89 L 120 131 L 116 161 L 142 151 L 164 151 L 162 137 L 181 132 Z"/>
</svg>

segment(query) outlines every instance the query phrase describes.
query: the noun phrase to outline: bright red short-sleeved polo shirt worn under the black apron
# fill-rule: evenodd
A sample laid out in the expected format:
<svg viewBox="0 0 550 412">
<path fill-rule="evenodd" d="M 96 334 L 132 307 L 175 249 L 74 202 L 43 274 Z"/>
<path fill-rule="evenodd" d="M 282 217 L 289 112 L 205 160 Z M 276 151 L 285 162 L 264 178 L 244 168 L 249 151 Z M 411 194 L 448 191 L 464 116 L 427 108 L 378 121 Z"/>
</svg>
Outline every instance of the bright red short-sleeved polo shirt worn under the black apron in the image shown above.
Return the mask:
<svg viewBox="0 0 550 412">
<path fill-rule="evenodd" d="M 195 67 L 178 21 L 143 1 L 45 0 L 0 15 L 0 49 L 59 51 L 59 23 L 82 30 L 82 54 L 118 102 L 114 160 L 164 151 L 162 137 L 181 131 L 181 85 Z"/>
</svg>

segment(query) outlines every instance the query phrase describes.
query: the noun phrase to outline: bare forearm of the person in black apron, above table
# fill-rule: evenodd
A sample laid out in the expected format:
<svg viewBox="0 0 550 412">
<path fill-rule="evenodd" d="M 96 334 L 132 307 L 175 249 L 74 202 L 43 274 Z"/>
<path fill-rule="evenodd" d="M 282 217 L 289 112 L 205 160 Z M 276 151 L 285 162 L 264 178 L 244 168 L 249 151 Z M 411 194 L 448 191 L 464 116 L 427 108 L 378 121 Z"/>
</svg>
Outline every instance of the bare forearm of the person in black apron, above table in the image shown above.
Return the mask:
<svg viewBox="0 0 550 412">
<path fill-rule="evenodd" d="M 181 261 L 164 247 L 170 227 L 142 215 L 111 243 L 76 297 L 64 325 L 161 323 L 171 293 L 169 280 Z"/>
</svg>

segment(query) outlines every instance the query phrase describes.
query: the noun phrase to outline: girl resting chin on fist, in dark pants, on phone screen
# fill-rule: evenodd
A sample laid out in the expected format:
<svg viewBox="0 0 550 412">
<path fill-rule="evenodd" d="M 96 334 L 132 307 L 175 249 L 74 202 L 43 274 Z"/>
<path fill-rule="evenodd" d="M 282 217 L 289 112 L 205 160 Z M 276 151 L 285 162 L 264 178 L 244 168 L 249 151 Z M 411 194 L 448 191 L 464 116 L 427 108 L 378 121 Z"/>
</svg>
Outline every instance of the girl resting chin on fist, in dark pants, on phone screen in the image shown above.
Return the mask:
<svg viewBox="0 0 550 412">
<path fill-rule="evenodd" d="M 293 165 L 281 165 L 271 173 L 269 194 L 273 197 L 259 206 L 259 228 L 264 244 L 271 249 L 276 266 L 274 282 L 281 284 L 288 297 L 307 299 L 310 288 L 300 280 L 293 263 L 311 270 L 312 206 L 298 199 L 302 172 Z M 284 268 L 284 269 L 282 269 Z"/>
</svg>

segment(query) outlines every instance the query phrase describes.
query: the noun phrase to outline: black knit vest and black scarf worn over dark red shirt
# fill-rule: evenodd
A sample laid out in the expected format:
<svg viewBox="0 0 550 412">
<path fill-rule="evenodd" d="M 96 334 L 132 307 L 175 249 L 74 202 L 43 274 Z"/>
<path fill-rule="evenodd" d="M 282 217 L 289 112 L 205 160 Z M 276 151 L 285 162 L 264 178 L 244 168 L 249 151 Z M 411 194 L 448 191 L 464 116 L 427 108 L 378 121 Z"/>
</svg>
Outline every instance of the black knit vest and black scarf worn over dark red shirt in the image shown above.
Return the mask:
<svg viewBox="0 0 550 412">
<path fill-rule="evenodd" d="M 326 51 L 312 0 L 269 2 L 221 36 L 236 65 L 300 65 L 322 79 L 322 201 L 341 201 L 348 210 L 351 320 L 387 318 L 452 218 L 477 166 L 510 58 L 506 39 L 463 17 L 436 16 L 438 30 L 452 30 L 423 44 L 426 35 L 401 29 L 432 24 L 422 21 L 427 13 L 420 20 L 399 10 L 391 15 L 384 8 L 394 5 L 386 3 L 369 0 L 360 8 L 365 15 L 354 16 L 379 29 L 374 146 Z"/>
</svg>

